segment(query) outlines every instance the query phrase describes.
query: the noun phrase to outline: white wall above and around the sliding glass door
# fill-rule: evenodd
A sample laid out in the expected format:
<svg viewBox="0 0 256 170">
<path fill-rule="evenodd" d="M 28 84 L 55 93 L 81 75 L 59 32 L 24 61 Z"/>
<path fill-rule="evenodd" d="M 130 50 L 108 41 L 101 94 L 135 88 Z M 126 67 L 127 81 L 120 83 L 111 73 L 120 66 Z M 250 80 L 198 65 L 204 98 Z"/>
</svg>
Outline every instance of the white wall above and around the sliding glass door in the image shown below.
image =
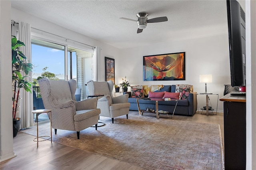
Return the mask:
<svg viewBox="0 0 256 170">
<path fill-rule="evenodd" d="M 105 64 L 104 64 L 105 58 L 104 57 L 110 57 L 110 58 L 116 59 L 117 57 L 120 56 L 119 55 L 120 50 L 116 47 L 113 47 L 103 42 L 99 42 L 97 40 L 94 40 L 82 34 L 78 34 L 76 32 L 68 30 L 66 28 L 62 28 L 54 23 L 48 22 L 46 20 L 42 20 L 40 18 L 37 18 L 35 16 L 32 16 L 30 14 L 17 10 L 16 8 L 12 8 L 12 20 L 16 22 L 23 21 L 23 22 L 29 23 L 32 28 L 40 29 L 40 30 L 43 30 L 44 32 L 50 32 L 52 34 L 69 38 L 71 40 L 75 40 L 77 42 L 85 43 L 91 46 L 100 47 L 101 48 L 100 67 L 99 67 L 100 81 L 105 81 Z M 88 48 L 88 46 L 86 45 L 82 45 L 80 43 L 76 43 L 71 40 L 66 41 L 66 39 L 59 38 L 57 36 L 52 36 L 44 32 L 40 32 L 34 29 L 31 30 L 32 37 L 35 37 L 35 38 L 41 38 L 42 40 L 51 40 L 51 42 L 61 43 L 62 45 L 68 45 L 68 46 L 76 47 L 83 50 L 86 50 Z"/>
</svg>

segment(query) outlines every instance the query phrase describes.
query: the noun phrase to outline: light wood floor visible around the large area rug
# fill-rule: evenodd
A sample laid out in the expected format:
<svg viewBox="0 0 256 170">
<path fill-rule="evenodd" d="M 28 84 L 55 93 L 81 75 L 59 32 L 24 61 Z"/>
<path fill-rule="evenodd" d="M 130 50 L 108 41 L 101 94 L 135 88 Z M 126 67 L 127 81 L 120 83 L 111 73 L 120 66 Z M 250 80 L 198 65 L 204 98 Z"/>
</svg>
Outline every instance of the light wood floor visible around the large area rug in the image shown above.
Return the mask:
<svg viewBox="0 0 256 170">
<path fill-rule="evenodd" d="M 199 112 L 201 113 L 201 111 Z M 173 120 L 192 121 L 200 123 L 219 124 L 222 133 L 222 143 L 224 142 L 223 113 L 217 115 L 206 113 L 196 113 L 193 117 L 174 115 Z M 130 115 L 138 115 L 138 111 L 130 111 Z M 214 113 L 216 114 L 216 112 Z M 143 116 L 155 117 L 155 114 L 144 113 Z M 170 119 L 161 114 L 160 119 Z M 100 127 L 98 127 L 100 128 Z M 54 132 L 53 132 L 54 133 Z M 36 142 L 33 141 L 35 136 L 19 132 L 14 138 L 14 158 L 0 163 L 1 170 L 145 170 L 139 166 L 113 160 L 98 154 L 92 154 L 83 150 L 72 148 L 50 141 L 39 142 L 37 148 Z M 224 146 L 224 144 L 223 144 Z"/>
</svg>

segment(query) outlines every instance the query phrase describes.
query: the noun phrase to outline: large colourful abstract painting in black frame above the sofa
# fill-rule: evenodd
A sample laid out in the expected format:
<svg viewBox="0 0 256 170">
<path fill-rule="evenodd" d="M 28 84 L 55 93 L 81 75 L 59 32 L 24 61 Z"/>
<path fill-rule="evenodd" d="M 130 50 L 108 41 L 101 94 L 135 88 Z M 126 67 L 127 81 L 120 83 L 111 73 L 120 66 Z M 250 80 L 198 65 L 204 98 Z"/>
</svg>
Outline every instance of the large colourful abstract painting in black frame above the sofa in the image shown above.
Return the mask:
<svg viewBox="0 0 256 170">
<path fill-rule="evenodd" d="M 143 56 L 143 81 L 185 80 L 185 52 Z"/>
</svg>

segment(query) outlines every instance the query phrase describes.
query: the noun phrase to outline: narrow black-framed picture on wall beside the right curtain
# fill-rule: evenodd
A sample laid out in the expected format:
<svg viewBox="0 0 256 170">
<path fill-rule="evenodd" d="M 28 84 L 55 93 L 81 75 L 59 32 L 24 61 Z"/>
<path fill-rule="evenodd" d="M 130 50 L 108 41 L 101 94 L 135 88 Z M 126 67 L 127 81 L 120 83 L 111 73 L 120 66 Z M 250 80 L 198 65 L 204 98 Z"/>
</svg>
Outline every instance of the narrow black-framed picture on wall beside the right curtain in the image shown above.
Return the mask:
<svg viewBox="0 0 256 170">
<path fill-rule="evenodd" d="M 115 59 L 105 57 L 105 81 L 109 80 L 115 84 Z"/>
</svg>

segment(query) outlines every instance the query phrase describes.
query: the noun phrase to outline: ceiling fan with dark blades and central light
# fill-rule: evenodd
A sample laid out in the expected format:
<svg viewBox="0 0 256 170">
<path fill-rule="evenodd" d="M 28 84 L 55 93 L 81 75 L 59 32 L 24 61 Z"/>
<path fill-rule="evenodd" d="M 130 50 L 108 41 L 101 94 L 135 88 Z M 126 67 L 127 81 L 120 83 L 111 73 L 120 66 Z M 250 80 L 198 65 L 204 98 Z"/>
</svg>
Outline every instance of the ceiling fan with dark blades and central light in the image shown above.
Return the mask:
<svg viewBox="0 0 256 170">
<path fill-rule="evenodd" d="M 147 18 L 148 13 L 146 13 L 146 12 L 139 12 L 138 14 L 136 14 L 136 16 L 138 17 L 137 20 L 132 20 L 132 19 L 129 19 L 129 18 L 120 18 L 120 19 L 136 21 L 137 25 L 138 25 L 137 34 L 141 33 L 143 31 L 143 29 L 146 28 L 147 23 L 168 21 L 168 18 L 166 16 L 152 18 L 152 19 L 148 20 L 148 18 Z"/>
</svg>

